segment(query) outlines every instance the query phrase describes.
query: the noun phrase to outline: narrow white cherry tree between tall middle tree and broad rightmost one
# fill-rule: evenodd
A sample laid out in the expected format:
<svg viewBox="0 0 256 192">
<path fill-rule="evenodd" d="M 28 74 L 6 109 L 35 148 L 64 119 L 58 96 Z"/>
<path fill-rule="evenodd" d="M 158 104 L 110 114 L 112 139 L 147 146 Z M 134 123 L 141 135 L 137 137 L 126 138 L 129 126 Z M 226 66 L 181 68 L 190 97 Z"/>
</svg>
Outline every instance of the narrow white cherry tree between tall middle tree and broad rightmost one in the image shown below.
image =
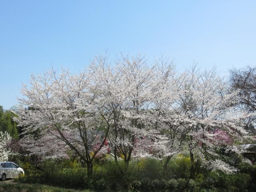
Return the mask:
<svg viewBox="0 0 256 192">
<path fill-rule="evenodd" d="M 163 158 L 167 156 L 165 167 L 170 158 L 177 154 L 177 148 L 180 148 L 182 140 L 179 140 L 177 128 L 172 129 L 173 106 L 178 96 L 178 84 L 174 65 L 167 59 L 160 58 L 156 62 L 156 77 L 154 82 L 156 86 L 151 91 L 151 105 L 146 120 L 151 123 L 151 139 L 154 142 L 154 157 Z M 172 120 L 171 120 L 172 119 Z M 169 124 L 171 122 L 171 124 Z M 174 122 L 175 124 L 175 122 Z M 173 132 L 174 131 L 174 132 Z"/>
</svg>

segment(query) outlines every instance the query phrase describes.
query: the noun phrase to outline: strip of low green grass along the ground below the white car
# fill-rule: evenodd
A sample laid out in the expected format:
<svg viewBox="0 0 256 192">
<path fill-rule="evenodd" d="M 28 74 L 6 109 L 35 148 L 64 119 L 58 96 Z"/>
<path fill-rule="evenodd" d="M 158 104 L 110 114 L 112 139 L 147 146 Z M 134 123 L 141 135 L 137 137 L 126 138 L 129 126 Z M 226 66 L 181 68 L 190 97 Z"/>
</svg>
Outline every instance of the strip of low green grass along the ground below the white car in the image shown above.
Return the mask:
<svg viewBox="0 0 256 192">
<path fill-rule="evenodd" d="M 93 192 L 91 190 L 72 190 L 41 184 L 6 183 L 0 184 L 0 192 Z"/>
</svg>

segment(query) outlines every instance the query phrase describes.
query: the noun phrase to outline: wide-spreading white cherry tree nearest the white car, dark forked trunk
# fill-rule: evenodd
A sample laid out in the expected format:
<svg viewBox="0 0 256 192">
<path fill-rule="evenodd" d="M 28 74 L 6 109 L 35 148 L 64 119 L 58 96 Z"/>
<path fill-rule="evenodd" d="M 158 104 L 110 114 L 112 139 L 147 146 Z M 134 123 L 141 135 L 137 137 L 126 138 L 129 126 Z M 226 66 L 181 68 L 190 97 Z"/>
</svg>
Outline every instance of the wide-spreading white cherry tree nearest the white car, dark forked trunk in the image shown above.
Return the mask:
<svg viewBox="0 0 256 192">
<path fill-rule="evenodd" d="M 52 156 L 62 156 L 68 147 L 87 164 L 88 174 L 92 174 L 93 160 L 104 146 L 110 128 L 109 111 L 104 108 L 105 100 L 99 96 L 98 86 L 86 71 L 72 75 L 68 70 L 57 74 L 52 69 L 43 75 L 32 75 L 30 86 L 22 88 L 25 98 L 20 99 L 21 104 L 30 108 L 18 114 L 20 126 L 25 127 L 23 134 L 38 131 L 43 135 L 35 141 L 37 144 L 32 143 L 35 147 L 32 152 L 47 151 Z M 49 153 L 42 140 L 57 153 Z M 98 148 L 94 147 L 96 144 Z"/>
</svg>

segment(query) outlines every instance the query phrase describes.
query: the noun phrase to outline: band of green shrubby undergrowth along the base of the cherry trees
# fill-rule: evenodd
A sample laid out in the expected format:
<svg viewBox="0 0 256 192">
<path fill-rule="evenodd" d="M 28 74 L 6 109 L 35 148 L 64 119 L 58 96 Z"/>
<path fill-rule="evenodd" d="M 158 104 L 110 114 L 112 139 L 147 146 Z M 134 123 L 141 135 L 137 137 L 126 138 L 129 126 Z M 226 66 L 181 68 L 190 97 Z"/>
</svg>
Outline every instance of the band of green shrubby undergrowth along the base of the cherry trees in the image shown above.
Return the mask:
<svg viewBox="0 0 256 192">
<path fill-rule="evenodd" d="M 256 166 L 240 165 L 240 172 L 225 174 L 221 171 L 198 169 L 190 179 L 190 160 L 186 156 L 173 158 L 166 170 L 164 160 L 145 158 L 108 161 L 94 165 L 94 173 L 88 177 L 86 168 L 78 163 L 46 161 L 44 171 L 30 168 L 19 182 L 41 183 L 65 188 L 91 189 L 96 191 L 172 191 L 172 192 L 250 192 L 255 191 Z"/>
</svg>

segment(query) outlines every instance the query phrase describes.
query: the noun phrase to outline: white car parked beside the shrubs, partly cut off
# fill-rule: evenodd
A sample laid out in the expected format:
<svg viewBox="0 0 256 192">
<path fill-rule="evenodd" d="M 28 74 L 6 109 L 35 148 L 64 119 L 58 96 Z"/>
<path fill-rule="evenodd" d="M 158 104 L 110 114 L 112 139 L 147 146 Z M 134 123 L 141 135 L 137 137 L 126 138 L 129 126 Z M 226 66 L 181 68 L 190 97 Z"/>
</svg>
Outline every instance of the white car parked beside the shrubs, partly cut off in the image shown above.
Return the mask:
<svg viewBox="0 0 256 192">
<path fill-rule="evenodd" d="M 4 181 L 6 178 L 15 178 L 24 174 L 24 170 L 13 162 L 0 162 L 0 176 Z"/>
</svg>

